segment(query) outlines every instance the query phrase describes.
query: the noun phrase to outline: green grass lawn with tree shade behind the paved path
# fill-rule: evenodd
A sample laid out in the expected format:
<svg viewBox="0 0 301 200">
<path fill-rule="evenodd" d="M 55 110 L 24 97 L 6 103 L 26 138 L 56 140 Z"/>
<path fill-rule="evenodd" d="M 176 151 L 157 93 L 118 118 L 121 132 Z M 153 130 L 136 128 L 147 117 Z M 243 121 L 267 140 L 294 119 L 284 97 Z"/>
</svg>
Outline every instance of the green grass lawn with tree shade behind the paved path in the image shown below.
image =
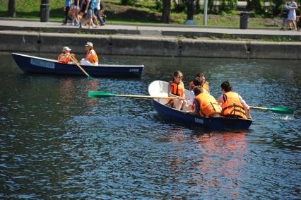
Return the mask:
<svg viewBox="0 0 301 200">
<path fill-rule="evenodd" d="M 0 17 L 6 17 L 8 0 L 0 0 Z M 161 23 L 161 14 L 156 10 L 154 1 L 139 1 L 136 6 L 122 6 L 120 0 L 102 0 L 103 9 L 107 15 L 107 22 L 119 23 Z M 62 20 L 64 16 L 64 1 L 49 0 L 50 19 Z M 16 1 L 17 18 L 39 19 L 40 0 Z M 183 24 L 186 13 L 171 13 L 171 24 Z M 198 25 L 203 25 L 203 14 L 194 15 Z M 249 27 L 280 27 L 281 18 L 249 18 Z M 162 23 L 161 23 L 162 24 Z M 238 27 L 239 14 L 208 15 L 207 25 Z"/>
</svg>

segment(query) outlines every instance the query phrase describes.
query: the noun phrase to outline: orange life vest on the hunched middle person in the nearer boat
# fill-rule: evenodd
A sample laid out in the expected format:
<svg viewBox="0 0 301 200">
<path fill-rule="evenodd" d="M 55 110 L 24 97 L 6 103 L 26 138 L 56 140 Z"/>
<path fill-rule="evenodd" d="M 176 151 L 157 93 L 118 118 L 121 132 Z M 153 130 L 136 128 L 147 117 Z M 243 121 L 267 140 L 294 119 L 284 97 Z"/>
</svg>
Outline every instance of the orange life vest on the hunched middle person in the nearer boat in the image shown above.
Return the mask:
<svg viewBox="0 0 301 200">
<path fill-rule="evenodd" d="M 218 102 L 212 95 L 208 93 L 201 93 L 197 95 L 195 98 L 199 102 L 200 107 L 200 115 L 201 117 L 210 117 L 212 114 L 221 114 L 220 107 Z"/>
</svg>

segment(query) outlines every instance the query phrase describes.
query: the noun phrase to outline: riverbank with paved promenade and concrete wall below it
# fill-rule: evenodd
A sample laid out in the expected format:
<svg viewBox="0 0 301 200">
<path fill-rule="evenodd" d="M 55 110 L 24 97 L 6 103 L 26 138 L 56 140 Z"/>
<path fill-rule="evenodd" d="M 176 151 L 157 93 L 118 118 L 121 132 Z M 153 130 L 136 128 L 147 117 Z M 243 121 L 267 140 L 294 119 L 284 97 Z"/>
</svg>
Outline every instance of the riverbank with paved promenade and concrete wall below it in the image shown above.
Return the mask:
<svg viewBox="0 0 301 200">
<path fill-rule="evenodd" d="M 273 38 L 295 42 L 271 42 Z M 0 41 L 0 51 L 5 52 L 53 53 L 69 46 L 80 53 L 85 42 L 91 41 L 100 54 L 301 59 L 300 32 L 270 29 L 132 24 L 80 29 L 58 22 L 0 20 Z"/>
</svg>

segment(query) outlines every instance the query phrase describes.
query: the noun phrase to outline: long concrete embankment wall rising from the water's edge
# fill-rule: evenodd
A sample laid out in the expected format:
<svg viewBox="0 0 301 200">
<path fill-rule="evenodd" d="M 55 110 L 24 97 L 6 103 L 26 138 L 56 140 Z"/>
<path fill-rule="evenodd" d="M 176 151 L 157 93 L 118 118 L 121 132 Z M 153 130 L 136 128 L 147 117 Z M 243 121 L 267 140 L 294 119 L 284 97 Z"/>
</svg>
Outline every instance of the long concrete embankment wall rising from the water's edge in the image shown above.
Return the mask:
<svg viewBox="0 0 301 200">
<path fill-rule="evenodd" d="M 0 51 L 61 52 L 69 46 L 74 53 L 84 51 L 85 42 L 95 44 L 100 54 L 211 57 L 249 59 L 301 59 L 301 42 L 253 42 L 201 40 L 186 37 L 150 37 L 142 35 L 86 35 L 0 31 Z"/>
</svg>

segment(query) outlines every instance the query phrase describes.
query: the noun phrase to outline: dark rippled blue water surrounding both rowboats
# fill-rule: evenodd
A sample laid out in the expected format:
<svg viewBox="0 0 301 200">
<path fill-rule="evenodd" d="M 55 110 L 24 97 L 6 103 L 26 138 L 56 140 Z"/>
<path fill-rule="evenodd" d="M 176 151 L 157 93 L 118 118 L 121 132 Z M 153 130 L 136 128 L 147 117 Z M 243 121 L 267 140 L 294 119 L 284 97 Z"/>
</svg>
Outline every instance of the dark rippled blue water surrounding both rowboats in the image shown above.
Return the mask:
<svg viewBox="0 0 301 200">
<path fill-rule="evenodd" d="M 57 55 L 42 55 L 55 58 Z M 102 56 L 145 64 L 141 79 L 25 74 L 0 54 L 0 199 L 300 199 L 300 61 Z M 88 90 L 148 95 L 151 81 L 203 71 L 218 98 L 232 82 L 253 111 L 247 131 L 162 119 L 150 100 L 88 99 Z"/>
</svg>

